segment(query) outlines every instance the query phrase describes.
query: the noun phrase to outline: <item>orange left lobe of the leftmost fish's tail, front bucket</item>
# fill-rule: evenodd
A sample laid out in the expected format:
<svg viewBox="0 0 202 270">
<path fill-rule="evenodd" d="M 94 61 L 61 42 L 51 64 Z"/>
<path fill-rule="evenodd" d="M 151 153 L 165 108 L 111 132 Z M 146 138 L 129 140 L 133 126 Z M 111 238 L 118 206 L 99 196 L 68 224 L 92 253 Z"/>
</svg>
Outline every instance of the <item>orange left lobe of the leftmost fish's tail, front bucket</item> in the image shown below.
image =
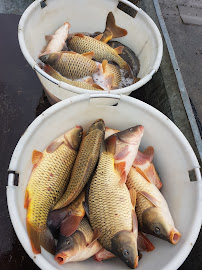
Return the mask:
<svg viewBox="0 0 202 270">
<path fill-rule="evenodd" d="M 40 254 L 41 253 L 41 247 L 40 247 L 40 235 L 39 232 L 36 231 L 32 225 L 30 224 L 30 222 L 26 221 L 27 223 L 27 233 L 30 239 L 30 243 L 32 246 L 32 251 L 34 254 Z"/>
</svg>

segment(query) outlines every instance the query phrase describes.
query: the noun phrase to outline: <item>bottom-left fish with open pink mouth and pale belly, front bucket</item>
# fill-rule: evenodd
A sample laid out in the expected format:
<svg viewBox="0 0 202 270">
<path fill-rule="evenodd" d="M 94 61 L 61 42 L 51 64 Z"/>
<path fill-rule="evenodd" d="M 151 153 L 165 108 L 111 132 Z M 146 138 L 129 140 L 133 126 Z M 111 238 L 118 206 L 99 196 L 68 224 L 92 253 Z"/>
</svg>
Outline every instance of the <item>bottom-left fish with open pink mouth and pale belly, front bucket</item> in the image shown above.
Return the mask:
<svg viewBox="0 0 202 270">
<path fill-rule="evenodd" d="M 72 235 L 60 235 L 55 260 L 60 265 L 67 262 L 84 261 L 101 248 L 96 234 L 93 233 L 87 218 L 84 217 Z"/>
</svg>

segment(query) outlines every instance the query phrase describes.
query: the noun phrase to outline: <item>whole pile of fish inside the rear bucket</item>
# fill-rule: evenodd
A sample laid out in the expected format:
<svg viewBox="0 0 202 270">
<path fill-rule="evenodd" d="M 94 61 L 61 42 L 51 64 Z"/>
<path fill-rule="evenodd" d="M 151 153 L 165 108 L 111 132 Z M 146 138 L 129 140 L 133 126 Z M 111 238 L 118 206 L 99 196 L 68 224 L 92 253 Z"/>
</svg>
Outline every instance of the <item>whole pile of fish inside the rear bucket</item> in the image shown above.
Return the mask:
<svg viewBox="0 0 202 270">
<path fill-rule="evenodd" d="M 88 90 L 119 89 L 139 80 L 135 53 L 120 42 L 110 41 L 127 35 L 125 29 L 115 24 L 112 12 L 107 16 L 104 33 L 97 32 L 96 36 L 69 35 L 69 28 L 70 24 L 65 22 L 54 35 L 46 36 L 49 43 L 39 59 L 50 76 Z"/>
</svg>

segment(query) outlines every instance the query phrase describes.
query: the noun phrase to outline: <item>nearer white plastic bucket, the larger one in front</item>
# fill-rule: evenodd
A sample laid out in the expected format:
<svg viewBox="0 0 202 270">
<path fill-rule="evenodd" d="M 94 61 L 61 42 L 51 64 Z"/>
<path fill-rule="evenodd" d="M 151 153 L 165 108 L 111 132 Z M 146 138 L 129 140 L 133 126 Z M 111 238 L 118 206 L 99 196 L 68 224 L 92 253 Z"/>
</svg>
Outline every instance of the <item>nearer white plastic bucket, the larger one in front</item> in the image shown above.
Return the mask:
<svg viewBox="0 0 202 270">
<path fill-rule="evenodd" d="M 13 153 L 7 186 L 7 201 L 11 221 L 24 249 L 41 268 L 48 270 L 109 270 L 129 269 L 119 259 L 104 263 L 89 259 L 84 262 L 58 265 L 54 257 L 42 249 L 34 255 L 26 230 L 24 197 L 32 170 L 32 151 L 43 151 L 51 141 L 75 125 L 87 128 L 95 119 L 103 118 L 106 126 L 123 130 L 141 124 L 145 132 L 140 149 L 152 145 L 155 149 L 154 164 L 163 182 L 162 193 L 166 198 L 176 228 L 182 234 L 177 245 L 149 236 L 155 250 L 144 252 L 139 270 L 175 270 L 191 251 L 201 226 L 202 182 L 197 158 L 181 131 L 165 115 L 150 105 L 127 96 L 104 95 L 118 102 L 117 106 L 98 105 L 95 99 L 103 95 L 79 95 L 47 109 L 28 127 Z M 196 181 L 191 182 L 193 171 Z M 19 184 L 14 185 L 15 174 Z"/>
</svg>

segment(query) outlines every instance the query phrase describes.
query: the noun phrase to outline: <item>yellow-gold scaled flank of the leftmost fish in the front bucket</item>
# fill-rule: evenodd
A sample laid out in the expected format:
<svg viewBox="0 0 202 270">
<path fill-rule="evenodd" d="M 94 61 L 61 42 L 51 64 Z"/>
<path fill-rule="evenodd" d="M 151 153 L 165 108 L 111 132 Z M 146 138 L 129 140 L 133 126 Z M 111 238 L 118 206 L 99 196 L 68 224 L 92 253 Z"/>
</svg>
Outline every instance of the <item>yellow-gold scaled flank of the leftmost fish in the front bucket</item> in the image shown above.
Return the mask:
<svg viewBox="0 0 202 270">
<path fill-rule="evenodd" d="M 45 150 L 40 163 L 33 168 L 26 190 L 27 220 L 37 231 L 46 228 L 50 209 L 64 193 L 76 155 L 63 143 L 51 154 Z"/>
</svg>

